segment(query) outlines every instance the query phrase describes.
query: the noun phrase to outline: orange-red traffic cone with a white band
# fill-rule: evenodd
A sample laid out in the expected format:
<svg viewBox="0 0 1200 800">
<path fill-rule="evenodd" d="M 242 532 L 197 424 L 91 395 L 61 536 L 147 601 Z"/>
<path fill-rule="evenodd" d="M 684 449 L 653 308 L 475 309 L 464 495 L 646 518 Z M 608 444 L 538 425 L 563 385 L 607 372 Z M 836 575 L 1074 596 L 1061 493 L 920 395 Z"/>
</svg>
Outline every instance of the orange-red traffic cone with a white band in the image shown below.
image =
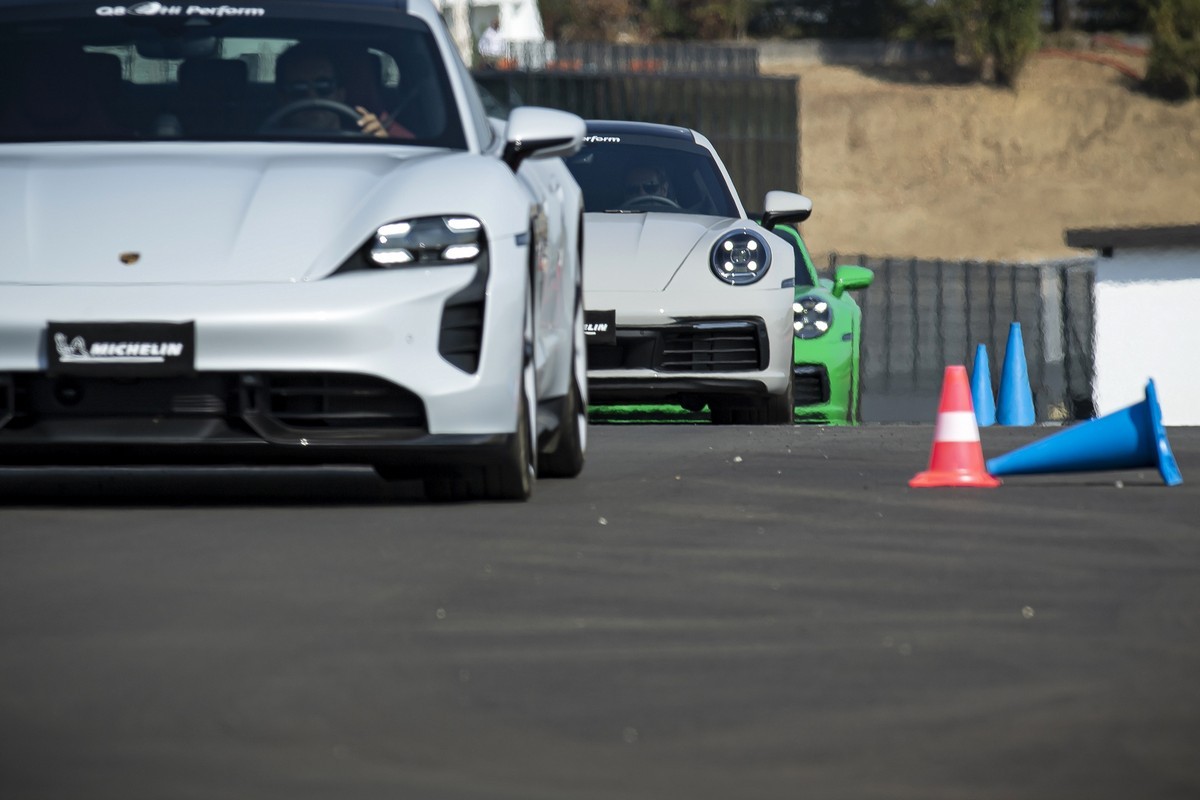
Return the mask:
<svg viewBox="0 0 1200 800">
<path fill-rule="evenodd" d="M 954 365 L 946 368 L 942 379 L 942 403 L 937 409 L 934 428 L 934 450 L 929 469 L 908 481 L 913 488 L 931 486 L 974 486 L 992 488 L 1000 480 L 988 474 L 979 444 L 979 425 L 971 404 L 967 368 Z"/>
</svg>

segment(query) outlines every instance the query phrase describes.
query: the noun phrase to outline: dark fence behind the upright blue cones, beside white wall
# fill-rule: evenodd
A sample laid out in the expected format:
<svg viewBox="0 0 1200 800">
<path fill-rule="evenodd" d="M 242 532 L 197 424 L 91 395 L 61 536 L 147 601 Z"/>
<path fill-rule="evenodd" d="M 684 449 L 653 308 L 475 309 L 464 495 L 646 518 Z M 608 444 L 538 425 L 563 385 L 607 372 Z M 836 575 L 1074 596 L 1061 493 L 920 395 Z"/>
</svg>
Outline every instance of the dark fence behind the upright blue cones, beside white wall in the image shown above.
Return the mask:
<svg viewBox="0 0 1200 800">
<path fill-rule="evenodd" d="M 863 419 L 928 422 L 947 365 L 973 368 L 988 348 L 1000 390 L 1012 323 L 1020 323 L 1039 421 L 1094 416 L 1091 258 L 1036 264 L 829 257 L 875 270 L 863 308 Z"/>
</svg>

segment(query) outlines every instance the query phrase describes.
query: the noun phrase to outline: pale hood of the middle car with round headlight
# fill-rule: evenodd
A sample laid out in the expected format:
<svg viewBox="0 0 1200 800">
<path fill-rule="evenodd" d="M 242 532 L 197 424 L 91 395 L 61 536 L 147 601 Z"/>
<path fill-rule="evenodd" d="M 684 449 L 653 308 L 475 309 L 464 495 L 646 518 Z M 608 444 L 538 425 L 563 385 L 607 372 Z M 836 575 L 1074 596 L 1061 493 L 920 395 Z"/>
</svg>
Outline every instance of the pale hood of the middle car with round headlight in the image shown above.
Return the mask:
<svg viewBox="0 0 1200 800">
<path fill-rule="evenodd" d="M 662 291 L 688 261 L 708 263 L 709 248 L 746 219 L 686 213 L 584 215 L 583 288 Z"/>
</svg>

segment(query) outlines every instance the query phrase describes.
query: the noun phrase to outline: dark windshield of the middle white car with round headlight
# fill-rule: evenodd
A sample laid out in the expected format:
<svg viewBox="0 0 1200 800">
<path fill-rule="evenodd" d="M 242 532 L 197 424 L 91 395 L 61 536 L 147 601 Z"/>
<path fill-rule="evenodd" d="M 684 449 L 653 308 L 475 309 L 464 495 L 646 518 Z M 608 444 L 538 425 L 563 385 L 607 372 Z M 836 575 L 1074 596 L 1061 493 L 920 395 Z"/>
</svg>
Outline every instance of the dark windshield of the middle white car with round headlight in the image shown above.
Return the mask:
<svg viewBox="0 0 1200 800">
<path fill-rule="evenodd" d="M 586 211 L 739 216 L 712 154 L 694 142 L 593 136 L 566 166 Z"/>
</svg>

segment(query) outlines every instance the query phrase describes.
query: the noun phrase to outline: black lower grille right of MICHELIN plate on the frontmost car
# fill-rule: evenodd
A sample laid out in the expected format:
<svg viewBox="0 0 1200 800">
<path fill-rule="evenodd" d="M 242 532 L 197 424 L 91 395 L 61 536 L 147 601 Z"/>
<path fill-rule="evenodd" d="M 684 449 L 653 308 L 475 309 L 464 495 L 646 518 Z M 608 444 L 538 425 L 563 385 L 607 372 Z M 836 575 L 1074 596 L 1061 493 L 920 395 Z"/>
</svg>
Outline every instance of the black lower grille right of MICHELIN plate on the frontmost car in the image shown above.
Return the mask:
<svg viewBox="0 0 1200 800">
<path fill-rule="evenodd" d="M 289 428 L 425 427 L 416 395 L 371 375 L 270 373 L 258 380 L 264 410 Z"/>
</svg>

